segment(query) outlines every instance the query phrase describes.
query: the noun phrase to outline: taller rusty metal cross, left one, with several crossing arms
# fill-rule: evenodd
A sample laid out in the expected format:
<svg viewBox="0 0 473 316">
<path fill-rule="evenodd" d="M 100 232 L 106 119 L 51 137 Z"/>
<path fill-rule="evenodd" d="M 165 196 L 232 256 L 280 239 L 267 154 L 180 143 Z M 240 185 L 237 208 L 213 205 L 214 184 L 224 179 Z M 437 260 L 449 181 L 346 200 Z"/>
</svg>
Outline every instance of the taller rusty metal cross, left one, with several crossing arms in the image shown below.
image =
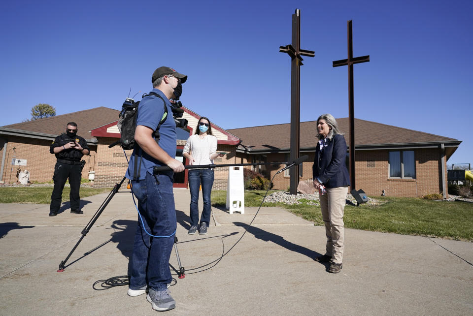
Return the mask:
<svg viewBox="0 0 473 316">
<path fill-rule="evenodd" d="M 301 56 L 314 57 L 315 52 L 301 49 L 301 10 L 296 9 L 292 15 L 292 44 L 280 46 L 279 52 L 287 53 L 291 57 L 291 154 L 289 161 L 299 158 L 299 123 L 300 123 L 300 93 L 301 71 L 303 65 Z M 299 184 L 299 166 L 289 169 L 290 193 L 297 194 Z"/>
</svg>

